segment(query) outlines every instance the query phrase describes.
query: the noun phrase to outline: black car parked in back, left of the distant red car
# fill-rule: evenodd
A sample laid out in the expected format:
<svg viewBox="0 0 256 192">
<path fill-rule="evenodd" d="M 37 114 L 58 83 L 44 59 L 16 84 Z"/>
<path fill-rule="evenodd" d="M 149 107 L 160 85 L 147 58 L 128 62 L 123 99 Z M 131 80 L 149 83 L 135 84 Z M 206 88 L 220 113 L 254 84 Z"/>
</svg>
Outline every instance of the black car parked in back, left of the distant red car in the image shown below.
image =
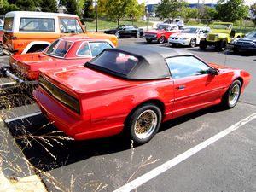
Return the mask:
<svg viewBox="0 0 256 192">
<path fill-rule="evenodd" d="M 143 29 L 138 28 L 137 26 L 131 26 L 131 25 L 120 25 L 120 26 L 115 27 L 114 29 L 106 30 L 105 33 L 113 34 L 117 38 L 121 38 L 121 37 L 141 38 L 141 37 L 143 37 Z"/>
</svg>

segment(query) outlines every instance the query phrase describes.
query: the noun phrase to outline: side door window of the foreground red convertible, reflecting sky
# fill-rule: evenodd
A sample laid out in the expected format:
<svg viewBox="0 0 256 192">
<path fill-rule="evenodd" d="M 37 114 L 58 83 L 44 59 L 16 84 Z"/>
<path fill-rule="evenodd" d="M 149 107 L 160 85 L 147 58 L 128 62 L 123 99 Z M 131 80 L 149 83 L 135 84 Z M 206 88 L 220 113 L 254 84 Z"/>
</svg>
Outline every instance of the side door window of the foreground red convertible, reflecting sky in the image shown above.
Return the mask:
<svg viewBox="0 0 256 192">
<path fill-rule="evenodd" d="M 210 68 L 204 62 L 190 55 L 170 57 L 166 59 L 166 62 L 173 79 L 205 74 Z"/>
</svg>

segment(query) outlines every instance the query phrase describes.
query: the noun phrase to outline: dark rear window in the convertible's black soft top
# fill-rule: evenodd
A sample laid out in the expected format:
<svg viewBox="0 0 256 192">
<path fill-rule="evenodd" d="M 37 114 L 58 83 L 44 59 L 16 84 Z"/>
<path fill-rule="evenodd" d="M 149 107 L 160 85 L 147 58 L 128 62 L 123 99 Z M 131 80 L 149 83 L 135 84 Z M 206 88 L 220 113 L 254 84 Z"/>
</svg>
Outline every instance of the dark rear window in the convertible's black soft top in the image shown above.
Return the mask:
<svg viewBox="0 0 256 192">
<path fill-rule="evenodd" d="M 95 60 L 90 61 L 89 64 L 90 67 L 103 69 L 102 71 L 127 75 L 131 72 L 131 69 L 136 66 L 137 62 L 138 59 L 134 55 L 128 55 L 114 50 L 106 50 L 102 55 L 96 57 Z"/>
</svg>

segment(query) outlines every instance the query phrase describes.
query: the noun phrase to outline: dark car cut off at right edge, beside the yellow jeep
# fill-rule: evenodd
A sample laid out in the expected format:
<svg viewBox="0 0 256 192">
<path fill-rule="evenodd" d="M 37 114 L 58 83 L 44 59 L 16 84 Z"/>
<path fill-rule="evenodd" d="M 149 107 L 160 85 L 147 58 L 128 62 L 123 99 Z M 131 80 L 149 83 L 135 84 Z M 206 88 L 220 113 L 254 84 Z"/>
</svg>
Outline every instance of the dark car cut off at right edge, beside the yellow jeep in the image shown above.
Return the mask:
<svg viewBox="0 0 256 192">
<path fill-rule="evenodd" d="M 234 52 L 239 50 L 256 51 L 256 31 L 249 32 L 245 38 L 235 38 L 230 42 L 230 49 Z"/>
</svg>

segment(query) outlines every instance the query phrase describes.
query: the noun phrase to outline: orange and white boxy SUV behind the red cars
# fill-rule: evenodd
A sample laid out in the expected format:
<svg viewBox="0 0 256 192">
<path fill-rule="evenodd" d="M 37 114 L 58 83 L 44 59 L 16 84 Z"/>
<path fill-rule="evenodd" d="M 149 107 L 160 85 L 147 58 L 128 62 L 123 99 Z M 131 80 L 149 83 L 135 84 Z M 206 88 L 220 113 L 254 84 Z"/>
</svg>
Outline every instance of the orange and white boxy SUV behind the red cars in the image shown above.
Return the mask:
<svg viewBox="0 0 256 192">
<path fill-rule="evenodd" d="M 86 32 L 77 15 L 13 11 L 5 15 L 3 51 L 9 55 L 44 50 L 55 39 L 83 33 L 88 38 L 117 38 L 103 33 Z"/>
</svg>

